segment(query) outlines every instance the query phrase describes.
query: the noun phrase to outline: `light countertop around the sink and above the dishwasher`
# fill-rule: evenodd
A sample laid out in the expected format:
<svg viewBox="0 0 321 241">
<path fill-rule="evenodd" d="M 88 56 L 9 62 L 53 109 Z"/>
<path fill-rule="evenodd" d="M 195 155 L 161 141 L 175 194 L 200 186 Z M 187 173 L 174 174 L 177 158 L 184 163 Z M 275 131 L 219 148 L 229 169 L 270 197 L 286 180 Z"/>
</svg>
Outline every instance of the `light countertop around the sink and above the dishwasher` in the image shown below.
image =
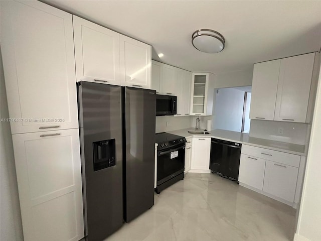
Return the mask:
<svg viewBox="0 0 321 241">
<path fill-rule="evenodd" d="M 286 153 L 291 153 L 291 154 L 296 154 L 300 156 L 305 156 L 305 146 L 304 145 L 297 145 L 297 144 L 292 144 L 292 143 L 285 143 L 285 142 L 276 142 L 276 141 L 271 141 L 271 140 L 266 140 L 266 139 L 260 139 L 260 138 L 254 138 L 254 137 L 249 137 L 249 134 L 247 133 L 240 133 L 240 132 L 232 132 L 232 131 L 226 131 L 226 130 L 212 130 L 208 131 L 211 133 L 210 135 L 195 135 L 195 134 L 190 134 L 188 131 L 195 131 L 194 128 L 187 128 L 187 129 L 181 129 L 181 130 L 176 130 L 176 131 L 169 131 L 168 133 L 182 136 L 182 137 L 209 137 L 209 138 L 217 138 L 217 139 L 222 139 L 226 141 L 231 141 L 231 142 L 237 142 L 241 144 L 246 144 L 250 146 L 255 146 L 255 147 L 262 147 L 262 148 L 267 148 L 275 151 L 280 151 L 280 152 L 286 152 Z"/>
</svg>

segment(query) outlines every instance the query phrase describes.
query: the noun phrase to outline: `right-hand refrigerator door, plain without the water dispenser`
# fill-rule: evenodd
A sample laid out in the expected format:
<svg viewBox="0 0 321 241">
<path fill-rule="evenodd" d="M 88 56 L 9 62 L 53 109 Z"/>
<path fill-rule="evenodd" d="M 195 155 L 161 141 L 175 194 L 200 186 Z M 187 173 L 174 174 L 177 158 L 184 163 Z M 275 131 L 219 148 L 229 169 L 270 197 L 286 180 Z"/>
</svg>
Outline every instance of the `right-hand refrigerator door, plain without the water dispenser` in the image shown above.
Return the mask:
<svg viewBox="0 0 321 241">
<path fill-rule="evenodd" d="M 154 205 L 156 91 L 123 87 L 124 220 Z"/>
</svg>

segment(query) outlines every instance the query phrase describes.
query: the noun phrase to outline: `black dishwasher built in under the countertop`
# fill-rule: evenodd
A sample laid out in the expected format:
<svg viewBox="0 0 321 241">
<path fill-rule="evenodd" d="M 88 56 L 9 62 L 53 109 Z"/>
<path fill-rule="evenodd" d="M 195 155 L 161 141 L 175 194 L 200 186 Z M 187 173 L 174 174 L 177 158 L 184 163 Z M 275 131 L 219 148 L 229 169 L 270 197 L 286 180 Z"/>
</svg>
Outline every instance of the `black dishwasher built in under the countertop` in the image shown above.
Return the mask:
<svg viewBox="0 0 321 241">
<path fill-rule="evenodd" d="M 238 181 L 242 144 L 212 138 L 210 169 L 212 173 Z"/>
</svg>

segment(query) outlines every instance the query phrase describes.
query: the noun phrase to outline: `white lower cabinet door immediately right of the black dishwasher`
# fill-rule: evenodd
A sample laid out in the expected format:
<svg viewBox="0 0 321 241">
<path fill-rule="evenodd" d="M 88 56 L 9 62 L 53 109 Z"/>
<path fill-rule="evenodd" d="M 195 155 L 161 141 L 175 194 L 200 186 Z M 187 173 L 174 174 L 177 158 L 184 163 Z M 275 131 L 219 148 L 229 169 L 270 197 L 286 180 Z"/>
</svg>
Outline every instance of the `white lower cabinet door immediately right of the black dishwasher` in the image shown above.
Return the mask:
<svg viewBox="0 0 321 241">
<path fill-rule="evenodd" d="M 239 182 L 263 190 L 265 159 L 241 154 Z"/>
</svg>

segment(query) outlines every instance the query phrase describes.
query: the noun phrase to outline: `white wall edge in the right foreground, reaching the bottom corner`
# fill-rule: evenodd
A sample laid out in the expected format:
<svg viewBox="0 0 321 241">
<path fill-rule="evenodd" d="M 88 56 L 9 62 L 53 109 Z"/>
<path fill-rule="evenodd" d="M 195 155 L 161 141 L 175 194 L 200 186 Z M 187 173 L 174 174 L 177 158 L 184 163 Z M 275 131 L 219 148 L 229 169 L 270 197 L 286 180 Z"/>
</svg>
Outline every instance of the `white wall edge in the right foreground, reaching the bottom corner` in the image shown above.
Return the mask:
<svg viewBox="0 0 321 241">
<path fill-rule="evenodd" d="M 321 75 L 321 74 L 320 74 Z M 321 80 L 319 75 L 295 241 L 321 240 Z"/>
</svg>

